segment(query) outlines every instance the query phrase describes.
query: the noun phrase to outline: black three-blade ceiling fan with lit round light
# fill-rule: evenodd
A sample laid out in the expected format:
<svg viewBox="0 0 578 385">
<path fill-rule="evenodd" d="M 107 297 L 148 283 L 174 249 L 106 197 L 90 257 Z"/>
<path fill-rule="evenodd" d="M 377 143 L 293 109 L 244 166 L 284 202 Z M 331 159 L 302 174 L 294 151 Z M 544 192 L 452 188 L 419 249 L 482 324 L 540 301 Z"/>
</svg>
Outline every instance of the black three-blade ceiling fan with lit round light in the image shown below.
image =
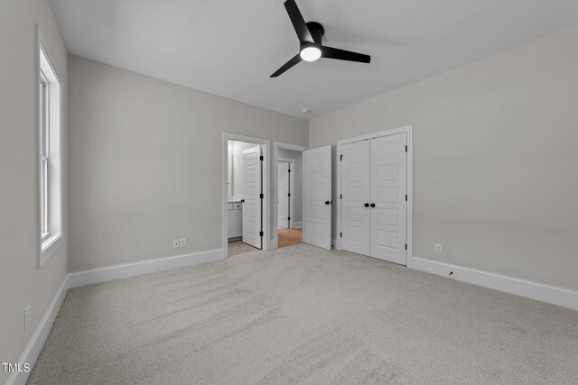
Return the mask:
<svg viewBox="0 0 578 385">
<path fill-rule="evenodd" d="M 297 37 L 299 38 L 299 53 L 293 59 L 287 61 L 280 69 L 277 69 L 270 78 L 276 78 L 287 69 L 292 68 L 295 64 L 302 60 L 315 61 L 320 58 L 358 61 L 360 63 L 368 63 L 371 57 L 362 53 L 351 52 L 350 50 L 340 50 L 338 48 L 327 47 L 322 45 L 322 37 L 325 33 L 322 24 L 309 22 L 305 23 L 303 15 L 299 12 L 299 8 L 295 4 L 295 0 L 287 0 L 284 2 L 285 9 L 291 23 L 293 23 Z"/>
</svg>

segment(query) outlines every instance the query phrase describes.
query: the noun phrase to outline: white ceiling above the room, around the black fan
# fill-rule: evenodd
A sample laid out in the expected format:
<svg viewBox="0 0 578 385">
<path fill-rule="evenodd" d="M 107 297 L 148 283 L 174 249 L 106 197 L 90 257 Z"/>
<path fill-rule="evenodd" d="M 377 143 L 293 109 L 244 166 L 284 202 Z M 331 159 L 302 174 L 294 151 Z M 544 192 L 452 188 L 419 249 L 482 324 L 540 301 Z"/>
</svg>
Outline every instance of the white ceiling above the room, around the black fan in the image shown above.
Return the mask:
<svg viewBox="0 0 578 385">
<path fill-rule="evenodd" d="M 297 0 L 370 64 L 302 62 L 283 0 L 51 0 L 70 53 L 310 119 L 578 24 L 576 0 Z M 312 110 L 303 115 L 303 108 Z"/>
</svg>

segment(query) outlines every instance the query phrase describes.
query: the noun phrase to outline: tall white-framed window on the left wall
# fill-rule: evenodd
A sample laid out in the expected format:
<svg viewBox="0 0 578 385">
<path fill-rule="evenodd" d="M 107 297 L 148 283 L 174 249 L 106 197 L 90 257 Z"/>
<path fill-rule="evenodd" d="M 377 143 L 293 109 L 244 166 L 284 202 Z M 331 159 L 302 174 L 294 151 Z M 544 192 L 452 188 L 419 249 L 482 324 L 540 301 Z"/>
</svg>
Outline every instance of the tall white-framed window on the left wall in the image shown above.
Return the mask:
<svg viewBox="0 0 578 385">
<path fill-rule="evenodd" d="M 40 265 L 61 243 L 61 82 L 39 44 L 38 129 Z"/>
</svg>

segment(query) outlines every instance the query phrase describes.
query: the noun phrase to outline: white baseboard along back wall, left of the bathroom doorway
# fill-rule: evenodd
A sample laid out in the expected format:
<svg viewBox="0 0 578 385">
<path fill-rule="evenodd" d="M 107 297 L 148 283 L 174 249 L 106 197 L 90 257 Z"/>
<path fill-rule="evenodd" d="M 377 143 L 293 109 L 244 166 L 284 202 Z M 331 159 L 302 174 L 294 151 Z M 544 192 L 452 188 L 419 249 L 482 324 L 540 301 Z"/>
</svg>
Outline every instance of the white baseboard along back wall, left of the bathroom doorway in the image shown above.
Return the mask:
<svg viewBox="0 0 578 385">
<path fill-rule="evenodd" d="M 179 269 L 205 262 L 220 261 L 222 259 L 222 250 L 216 249 L 206 252 L 192 252 L 190 254 L 157 258 L 154 260 L 124 263 L 99 269 L 76 271 L 69 273 L 69 288 L 79 288 L 80 286 L 93 285 L 109 280 L 122 280 L 137 275 Z"/>
</svg>

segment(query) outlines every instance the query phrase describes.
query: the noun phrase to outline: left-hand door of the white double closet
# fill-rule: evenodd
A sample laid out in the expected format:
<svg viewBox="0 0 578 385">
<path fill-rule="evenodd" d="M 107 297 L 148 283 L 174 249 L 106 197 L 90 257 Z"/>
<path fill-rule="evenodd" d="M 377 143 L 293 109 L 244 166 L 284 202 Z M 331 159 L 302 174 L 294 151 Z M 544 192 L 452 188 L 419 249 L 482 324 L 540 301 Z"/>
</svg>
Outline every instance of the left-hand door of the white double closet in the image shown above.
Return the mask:
<svg viewBox="0 0 578 385">
<path fill-rule="evenodd" d="M 370 255 L 369 141 L 341 146 L 341 249 Z"/>
</svg>

